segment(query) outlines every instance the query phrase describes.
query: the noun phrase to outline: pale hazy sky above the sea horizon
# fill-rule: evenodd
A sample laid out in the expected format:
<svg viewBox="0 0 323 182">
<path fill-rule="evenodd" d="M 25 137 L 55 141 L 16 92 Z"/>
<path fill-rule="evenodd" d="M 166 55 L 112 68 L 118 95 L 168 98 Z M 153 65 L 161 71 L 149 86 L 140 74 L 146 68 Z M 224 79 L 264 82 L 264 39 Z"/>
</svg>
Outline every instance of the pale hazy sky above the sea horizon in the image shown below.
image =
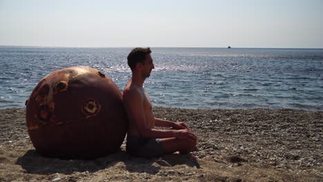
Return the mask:
<svg viewBox="0 0 323 182">
<path fill-rule="evenodd" d="M 322 0 L 0 0 L 0 45 L 323 48 Z"/>
</svg>

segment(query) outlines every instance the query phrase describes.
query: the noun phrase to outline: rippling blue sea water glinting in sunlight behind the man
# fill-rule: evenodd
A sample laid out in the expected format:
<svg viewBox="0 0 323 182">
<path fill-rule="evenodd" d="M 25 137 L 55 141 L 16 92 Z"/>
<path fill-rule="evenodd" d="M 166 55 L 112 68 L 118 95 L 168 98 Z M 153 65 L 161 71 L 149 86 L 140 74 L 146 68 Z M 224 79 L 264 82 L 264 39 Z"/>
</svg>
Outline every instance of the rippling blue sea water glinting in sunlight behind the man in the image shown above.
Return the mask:
<svg viewBox="0 0 323 182">
<path fill-rule="evenodd" d="M 123 90 L 131 48 L 0 47 L 0 108 L 24 107 L 46 74 L 86 65 Z M 151 48 L 153 106 L 323 110 L 323 50 Z"/>
</svg>

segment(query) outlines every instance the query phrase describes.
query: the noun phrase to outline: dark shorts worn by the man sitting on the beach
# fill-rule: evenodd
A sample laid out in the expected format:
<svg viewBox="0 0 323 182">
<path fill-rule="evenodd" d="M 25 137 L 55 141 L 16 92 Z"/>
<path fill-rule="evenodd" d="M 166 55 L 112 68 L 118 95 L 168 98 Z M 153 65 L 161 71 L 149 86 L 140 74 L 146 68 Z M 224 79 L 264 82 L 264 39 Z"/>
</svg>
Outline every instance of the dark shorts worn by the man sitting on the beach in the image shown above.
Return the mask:
<svg viewBox="0 0 323 182">
<path fill-rule="evenodd" d="M 141 136 L 127 136 L 126 152 L 139 157 L 154 157 L 164 154 L 159 139 Z"/>
</svg>

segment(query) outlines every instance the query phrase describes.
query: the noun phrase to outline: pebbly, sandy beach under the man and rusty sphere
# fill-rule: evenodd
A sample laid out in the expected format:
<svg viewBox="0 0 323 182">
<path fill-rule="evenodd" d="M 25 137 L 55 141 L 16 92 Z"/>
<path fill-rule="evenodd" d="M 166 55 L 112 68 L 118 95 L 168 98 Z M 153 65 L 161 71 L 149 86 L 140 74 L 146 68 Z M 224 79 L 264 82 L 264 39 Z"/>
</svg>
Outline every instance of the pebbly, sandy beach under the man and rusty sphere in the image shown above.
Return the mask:
<svg viewBox="0 0 323 182">
<path fill-rule="evenodd" d="M 0 181 L 323 181 L 323 111 L 154 108 L 197 136 L 190 155 L 134 158 L 121 150 L 90 161 L 35 152 L 25 110 L 0 110 Z"/>
</svg>

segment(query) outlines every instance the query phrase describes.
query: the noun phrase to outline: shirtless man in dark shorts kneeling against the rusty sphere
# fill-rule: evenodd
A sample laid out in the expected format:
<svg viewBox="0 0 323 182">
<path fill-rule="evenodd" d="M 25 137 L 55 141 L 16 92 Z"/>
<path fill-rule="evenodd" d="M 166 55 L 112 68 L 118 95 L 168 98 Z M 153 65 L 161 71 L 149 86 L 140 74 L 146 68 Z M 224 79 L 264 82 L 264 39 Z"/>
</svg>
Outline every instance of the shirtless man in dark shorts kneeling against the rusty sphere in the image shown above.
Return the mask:
<svg viewBox="0 0 323 182">
<path fill-rule="evenodd" d="M 126 152 L 133 156 L 153 157 L 196 150 L 197 136 L 184 124 L 154 117 L 143 84 L 153 70 L 150 48 L 135 48 L 128 55 L 133 77 L 124 88 L 123 103 L 128 115 Z M 155 126 L 172 130 L 157 130 Z"/>
</svg>

